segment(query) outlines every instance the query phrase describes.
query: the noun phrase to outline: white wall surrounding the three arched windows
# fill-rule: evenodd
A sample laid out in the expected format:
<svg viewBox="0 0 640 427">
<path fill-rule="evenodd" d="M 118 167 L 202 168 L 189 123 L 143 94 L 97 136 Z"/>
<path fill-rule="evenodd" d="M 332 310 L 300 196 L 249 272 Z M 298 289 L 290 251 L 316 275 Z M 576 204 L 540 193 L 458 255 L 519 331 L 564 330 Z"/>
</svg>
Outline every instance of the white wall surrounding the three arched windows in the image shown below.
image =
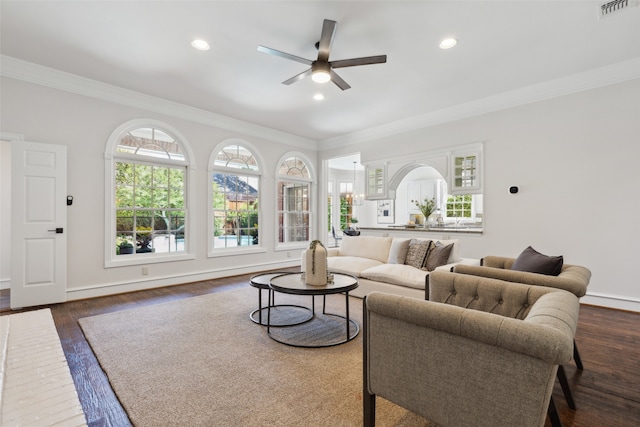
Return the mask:
<svg viewBox="0 0 640 427">
<path fill-rule="evenodd" d="M 276 231 L 272 226 L 261 227 L 260 240 L 267 249 L 266 253 L 207 257 L 207 162 L 215 145 L 230 137 L 244 139 L 260 150 L 267 166 L 261 189 L 264 203 L 260 208 L 265 213 L 263 222 L 271 225 L 274 221 L 278 160 L 286 152 L 302 152 L 317 172 L 314 149 L 302 149 L 9 78 L 2 78 L 1 84 L 0 129 L 3 132 L 23 134 L 26 141 L 66 145 L 68 148 L 68 194 L 74 197 L 74 203 L 67 211 L 68 299 L 277 269 L 299 263 L 300 251 L 275 250 Z M 136 118 L 160 120 L 177 129 L 190 144 L 197 167 L 194 227 L 199 231 L 194 242 L 196 259 L 149 264 L 149 274 L 145 276 L 141 266 L 104 268 L 105 145 L 114 129 Z M 7 199 L 5 191 L 2 193 L 4 206 L 10 199 Z M 3 230 L 4 227 L 5 224 Z M 4 269 L 4 256 L 2 265 Z"/>
</svg>

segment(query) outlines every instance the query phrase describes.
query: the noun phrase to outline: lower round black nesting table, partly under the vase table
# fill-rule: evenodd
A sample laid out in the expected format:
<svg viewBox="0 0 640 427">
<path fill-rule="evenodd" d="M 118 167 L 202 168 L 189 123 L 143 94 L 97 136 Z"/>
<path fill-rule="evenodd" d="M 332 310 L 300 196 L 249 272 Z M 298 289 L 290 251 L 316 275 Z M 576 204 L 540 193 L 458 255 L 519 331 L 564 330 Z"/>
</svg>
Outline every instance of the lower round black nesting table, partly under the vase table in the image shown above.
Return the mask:
<svg viewBox="0 0 640 427">
<path fill-rule="evenodd" d="M 293 312 L 288 312 L 286 320 L 279 321 L 274 319 L 271 326 L 274 327 L 284 327 L 284 326 L 295 326 L 304 322 L 308 322 L 313 318 L 313 310 L 307 307 L 303 307 L 301 305 L 293 305 L 293 304 L 276 304 L 274 301 L 273 292 L 271 292 L 269 288 L 269 282 L 272 278 L 276 276 L 287 274 L 299 274 L 299 273 L 287 273 L 287 272 L 278 272 L 278 273 L 264 273 L 264 274 L 256 274 L 249 279 L 249 284 L 254 288 L 258 288 L 258 308 L 249 313 L 249 319 L 252 322 L 257 323 L 262 326 L 266 326 L 267 323 L 263 319 L 262 313 L 265 310 L 268 310 L 269 307 L 273 307 L 276 310 L 294 310 Z M 269 291 L 269 302 L 267 303 L 267 307 L 262 306 L 262 291 Z M 275 310 L 274 310 L 275 311 Z M 256 318 L 257 317 L 257 318 Z"/>
</svg>

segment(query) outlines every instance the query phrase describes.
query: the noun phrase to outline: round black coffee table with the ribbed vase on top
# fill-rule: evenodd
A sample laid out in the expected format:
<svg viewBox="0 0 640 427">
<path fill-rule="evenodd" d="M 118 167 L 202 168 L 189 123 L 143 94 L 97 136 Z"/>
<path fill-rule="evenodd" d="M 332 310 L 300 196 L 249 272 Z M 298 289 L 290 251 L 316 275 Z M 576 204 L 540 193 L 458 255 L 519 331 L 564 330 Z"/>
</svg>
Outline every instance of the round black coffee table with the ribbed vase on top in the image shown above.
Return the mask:
<svg viewBox="0 0 640 427">
<path fill-rule="evenodd" d="M 290 295 L 311 295 L 311 321 L 304 326 L 283 330 L 271 323 L 271 308 L 267 307 L 267 334 L 273 340 L 294 347 L 331 347 L 344 344 L 354 339 L 360 331 L 357 322 L 349 318 L 349 292 L 358 287 L 358 279 L 348 274 L 333 274 L 333 281 L 324 286 L 307 285 L 302 273 L 281 274 L 271 278 L 271 293 L 280 292 Z M 345 315 L 327 313 L 327 295 L 344 294 Z M 322 316 L 316 316 L 315 296 L 322 295 Z M 273 328 L 273 329 L 272 329 Z"/>
</svg>

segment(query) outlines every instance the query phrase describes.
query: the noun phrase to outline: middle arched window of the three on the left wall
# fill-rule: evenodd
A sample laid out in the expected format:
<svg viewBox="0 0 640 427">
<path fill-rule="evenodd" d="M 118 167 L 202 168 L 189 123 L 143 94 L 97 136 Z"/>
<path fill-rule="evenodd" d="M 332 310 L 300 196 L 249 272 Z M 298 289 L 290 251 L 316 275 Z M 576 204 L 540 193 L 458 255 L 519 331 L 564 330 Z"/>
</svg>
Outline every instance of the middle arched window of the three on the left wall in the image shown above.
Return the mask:
<svg viewBox="0 0 640 427">
<path fill-rule="evenodd" d="M 227 140 L 214 151 L 210 171 L 210 250 L 228 254 L 260 248 L 260 166 L 242 140 Z"/>
</svg>

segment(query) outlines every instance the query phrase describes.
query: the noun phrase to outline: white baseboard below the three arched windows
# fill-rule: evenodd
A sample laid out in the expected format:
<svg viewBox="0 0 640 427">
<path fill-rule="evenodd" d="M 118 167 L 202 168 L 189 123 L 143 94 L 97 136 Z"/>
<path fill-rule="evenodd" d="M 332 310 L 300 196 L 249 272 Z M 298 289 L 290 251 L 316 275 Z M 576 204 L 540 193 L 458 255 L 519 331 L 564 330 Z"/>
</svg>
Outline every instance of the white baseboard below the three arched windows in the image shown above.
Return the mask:
<svg viewBox="0 0 640 427">
<path fill-rule="evenodd" d="M 101 283 L 98 285 L 67 289 L 67 301 L 104 297 L 126 292 L 143 291 L 146 289 L 161 288 L 164 286 L 180 285 L 190 282 L 219 279 L 222 277 L 237 276 L 240 274 L 249 274 L 254 272 L 257 273 L 259 271 L 277 270 L 279 268 L 290 268 L 296 266 L 300 266 L 299 260 L 266 262 L 231 268 L 219 268 L 215 270 L 175 274 L 171 276 L 150 277 L 142 280 Z"/>
</svg>

